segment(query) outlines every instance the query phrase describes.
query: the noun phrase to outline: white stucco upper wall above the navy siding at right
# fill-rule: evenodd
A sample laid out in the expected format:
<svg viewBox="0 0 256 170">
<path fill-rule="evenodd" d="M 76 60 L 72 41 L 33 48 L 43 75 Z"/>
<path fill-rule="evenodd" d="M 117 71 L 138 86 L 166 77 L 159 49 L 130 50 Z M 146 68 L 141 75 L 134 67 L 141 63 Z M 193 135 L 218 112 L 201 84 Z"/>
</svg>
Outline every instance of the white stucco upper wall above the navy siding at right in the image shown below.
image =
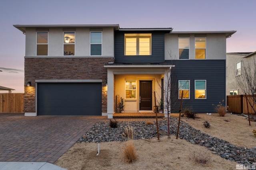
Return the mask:
<svg viewBox="0 0 256 170">
<path fill-rule="evenodd" d="M 170 52 L 172 59 L 178 60 L 179 47 L 178 47 L 178 34 L 165 34 L 165 59 L 170 60 Z M 189 59 L 195 59 L 195 35 L 182 37 L 190 38 Z M 206 59 L 226 59 L 226 36 L 225 34 L 207 34 L 206 35 Z"/>
</svg>

